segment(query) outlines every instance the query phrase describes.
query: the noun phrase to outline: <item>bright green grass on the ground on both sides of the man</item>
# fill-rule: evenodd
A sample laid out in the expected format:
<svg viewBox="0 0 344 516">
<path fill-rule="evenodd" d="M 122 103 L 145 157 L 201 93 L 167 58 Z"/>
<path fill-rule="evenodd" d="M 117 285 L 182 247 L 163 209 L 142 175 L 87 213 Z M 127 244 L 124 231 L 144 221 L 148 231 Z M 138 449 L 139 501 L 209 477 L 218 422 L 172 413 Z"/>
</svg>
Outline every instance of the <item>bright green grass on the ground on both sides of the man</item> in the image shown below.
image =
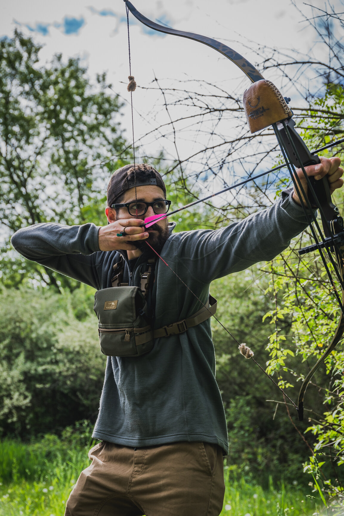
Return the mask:
<svg viewBox="0 0 344 516">
<path fill-rule="evenodd" d="M 85 446 L 85 443 L 87 445 Z M 31 443 L 5 439 L 0 445 L 0 515 L 63 516 L 65 503 L 81 470 L 89 465 L 89 428 L 67 429 L 62 438 L 45 436 Z M 312 516 L 326 514 L 319 495 L 305 496 L 296 486 L 266 490 L 225 470 L 221 515 Z M 329 510 L 329 516 L 340 514 Z M 341 513 L 343 514 L 343 513 Z M 177 515 L 176 515 L 177 516 Z"/>
</svg>

